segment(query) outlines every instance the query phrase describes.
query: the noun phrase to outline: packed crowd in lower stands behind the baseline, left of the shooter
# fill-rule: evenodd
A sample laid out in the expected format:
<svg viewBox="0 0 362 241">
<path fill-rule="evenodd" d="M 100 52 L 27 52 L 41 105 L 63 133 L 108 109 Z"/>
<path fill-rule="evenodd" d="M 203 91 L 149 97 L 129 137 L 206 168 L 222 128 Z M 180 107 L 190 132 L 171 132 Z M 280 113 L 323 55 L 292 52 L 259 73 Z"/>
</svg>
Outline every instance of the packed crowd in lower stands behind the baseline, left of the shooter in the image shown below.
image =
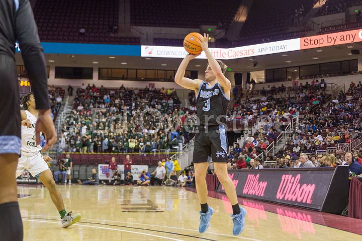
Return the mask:
<svg viewBox="0 0 362 241">
<path fill-rule="evenodd" d="M 196 114 L 179 107 L 173 89 L 82 85 L 76 90 L 73 111 L 65 120 L 58 151 L 179 150 L 193 137 L 187 130 L 196 128 Z"/>
</svg>

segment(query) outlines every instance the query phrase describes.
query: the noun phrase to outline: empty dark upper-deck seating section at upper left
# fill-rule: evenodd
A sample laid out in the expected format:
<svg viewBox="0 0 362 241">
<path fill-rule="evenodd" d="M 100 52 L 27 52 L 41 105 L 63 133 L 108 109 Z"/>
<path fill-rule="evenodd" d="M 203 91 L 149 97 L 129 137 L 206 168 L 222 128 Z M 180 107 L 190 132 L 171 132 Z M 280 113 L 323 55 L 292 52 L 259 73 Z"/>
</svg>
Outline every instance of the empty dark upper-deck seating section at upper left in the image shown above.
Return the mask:
<svg viewBox="0 0 362 241">
<path fill-rule="evenodd" d="M 118 0 L 38 0 L 34 17 L 42 42 L 139 45 L 139 38 L 112 36 Z M 80 35 L 79 30 L 85 34 Z"/>
</svg>

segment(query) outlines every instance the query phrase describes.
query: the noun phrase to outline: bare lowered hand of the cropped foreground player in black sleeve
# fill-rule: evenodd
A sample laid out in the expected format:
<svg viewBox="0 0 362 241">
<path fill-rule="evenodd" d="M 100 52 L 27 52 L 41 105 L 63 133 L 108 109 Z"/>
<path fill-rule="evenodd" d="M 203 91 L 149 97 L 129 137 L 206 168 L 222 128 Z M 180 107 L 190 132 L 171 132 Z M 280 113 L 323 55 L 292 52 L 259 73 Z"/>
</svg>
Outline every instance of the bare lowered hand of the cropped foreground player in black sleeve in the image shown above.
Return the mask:
<svg viewBox="0 0 362 241">
<path fill-rule="evenodd" d="M 50 116 L 51 111 L 40 110 L 38 120 L 35 124 L 36 132 L 36 144 L 40 144 L 40 132 L 45 134 L 46 144 L 43 146 L 42 151 L 47 151 L 55 142 L 56 142 L 56 131 L 54 127 L 53 120 Z"/>
</svg>

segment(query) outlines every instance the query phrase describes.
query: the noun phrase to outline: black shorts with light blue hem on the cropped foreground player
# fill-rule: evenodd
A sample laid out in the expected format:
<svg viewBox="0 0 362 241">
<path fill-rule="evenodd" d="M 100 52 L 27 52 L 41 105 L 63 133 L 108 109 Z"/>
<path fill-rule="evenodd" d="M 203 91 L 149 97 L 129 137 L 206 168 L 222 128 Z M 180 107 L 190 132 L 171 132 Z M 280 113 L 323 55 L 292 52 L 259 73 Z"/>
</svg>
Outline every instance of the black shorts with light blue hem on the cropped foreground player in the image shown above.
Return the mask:
<svg viewBox="0 0 362 241">
<path fill-rule="evenodd" d="M 15 60 L 0 54 L 0 154 L 20 154 L 21 118 Z"/>
</svg>

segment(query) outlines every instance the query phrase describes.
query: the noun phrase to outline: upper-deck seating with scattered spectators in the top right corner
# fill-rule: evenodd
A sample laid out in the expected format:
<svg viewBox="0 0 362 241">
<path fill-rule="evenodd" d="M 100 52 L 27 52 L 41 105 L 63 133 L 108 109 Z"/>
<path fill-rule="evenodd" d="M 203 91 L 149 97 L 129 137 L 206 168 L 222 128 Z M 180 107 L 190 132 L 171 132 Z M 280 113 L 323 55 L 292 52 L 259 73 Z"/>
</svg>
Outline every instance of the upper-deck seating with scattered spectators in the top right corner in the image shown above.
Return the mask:
<svg viewBox="0 0 362 241">
<path fill-rule="evenodd" d="M 323 16 L 329 14 L 344 13 L 349 7 L 361 5 L 360 0 L 328 0 L 315 14 L 315 16 Z"/>
</svg>

